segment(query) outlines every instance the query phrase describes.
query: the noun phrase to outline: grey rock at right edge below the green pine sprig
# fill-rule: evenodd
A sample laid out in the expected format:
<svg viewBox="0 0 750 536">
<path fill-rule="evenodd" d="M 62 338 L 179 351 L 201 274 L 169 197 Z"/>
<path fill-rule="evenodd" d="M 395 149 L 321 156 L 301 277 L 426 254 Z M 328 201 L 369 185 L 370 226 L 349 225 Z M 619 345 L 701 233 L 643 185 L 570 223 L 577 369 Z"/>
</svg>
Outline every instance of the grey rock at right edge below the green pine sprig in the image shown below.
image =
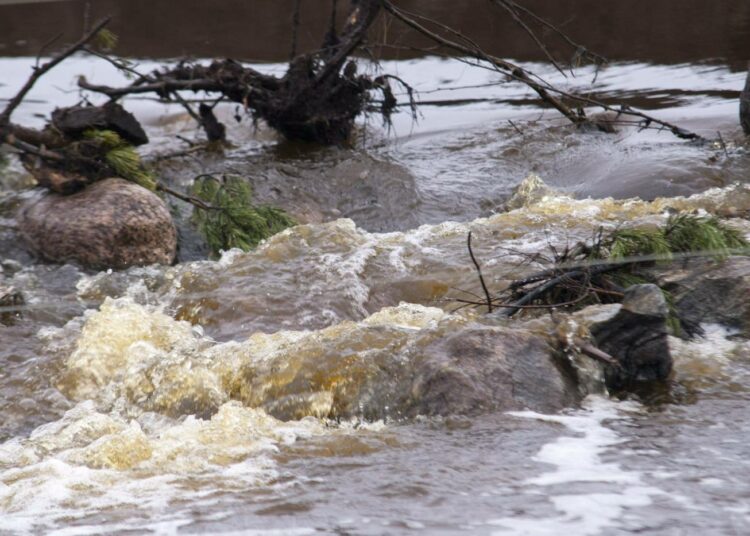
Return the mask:
<svg viewBox="0 0 750 536">
<path fill-rule="evenodd" d="M 723 324 L 750 337 L 750 258 L 691 259 L 660 278 L 683 324 Z"/>
</svg>

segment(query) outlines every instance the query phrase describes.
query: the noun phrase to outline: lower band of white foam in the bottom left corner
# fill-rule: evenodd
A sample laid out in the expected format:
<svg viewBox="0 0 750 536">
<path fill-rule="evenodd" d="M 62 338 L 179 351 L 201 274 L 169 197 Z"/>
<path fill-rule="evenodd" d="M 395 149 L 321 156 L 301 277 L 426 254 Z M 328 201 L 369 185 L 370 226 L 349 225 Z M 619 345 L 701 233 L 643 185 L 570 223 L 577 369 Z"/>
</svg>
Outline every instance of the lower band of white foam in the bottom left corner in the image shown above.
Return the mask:
<svg viewBox="0 0 750 536">
<path fill-rule="evenodd" d="M 313 419 L 282 423 L 238 403 L 223 405 L 210 420 L 165 422 L 171 424 L 147 433 L 137 421 L 99 413 L 85 401 L 28 439 L 0 444 L 0 533 L 176 534 L 217 494 L 276 478 L 272 456 L 281 445 L 336 433 Z M 86 523 L 123 510 L 133 519 Z M 144 522 L 144 514 L 158 522 Z"/>
</svg>

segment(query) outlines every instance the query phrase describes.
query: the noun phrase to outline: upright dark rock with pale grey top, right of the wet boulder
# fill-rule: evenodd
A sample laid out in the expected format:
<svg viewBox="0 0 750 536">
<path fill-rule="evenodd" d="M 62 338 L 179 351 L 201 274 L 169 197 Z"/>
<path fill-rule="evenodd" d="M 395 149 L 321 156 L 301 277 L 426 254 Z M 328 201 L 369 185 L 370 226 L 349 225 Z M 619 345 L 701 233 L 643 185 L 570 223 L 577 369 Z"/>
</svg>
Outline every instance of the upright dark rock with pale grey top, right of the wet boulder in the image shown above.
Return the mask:
<svg viewBox="0 0 750 536">
<path fill-rule="evenodd" d="M 609 320 L 589 329 L 598 348 L 613 356 L 621 368 L 605 365 L 607 386 L 628 387 L 636 381 L 665 380 L 672 371 L 667 342 L 669 308 L 656 285 L 633 285 L 622 307 Z"/>
</svg>

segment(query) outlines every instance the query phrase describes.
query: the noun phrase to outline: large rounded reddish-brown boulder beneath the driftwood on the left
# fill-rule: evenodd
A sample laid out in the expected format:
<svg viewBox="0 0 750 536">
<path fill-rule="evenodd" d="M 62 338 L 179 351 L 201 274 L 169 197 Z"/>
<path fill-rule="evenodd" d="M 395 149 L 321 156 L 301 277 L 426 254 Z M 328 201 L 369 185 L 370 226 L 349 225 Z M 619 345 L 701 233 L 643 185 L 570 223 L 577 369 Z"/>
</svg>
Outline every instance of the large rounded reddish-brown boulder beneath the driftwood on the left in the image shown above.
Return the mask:
<svg viewBox="0 0 750 536">
<path fill-rule="evenodd" d="M 177 248 L 164 202 L 123 179 L 105 179 L 73 195 L 43 195 L 20 211 L 18 227 L 42 258 L 92 268 L 170 264 Z"/>
</svg>

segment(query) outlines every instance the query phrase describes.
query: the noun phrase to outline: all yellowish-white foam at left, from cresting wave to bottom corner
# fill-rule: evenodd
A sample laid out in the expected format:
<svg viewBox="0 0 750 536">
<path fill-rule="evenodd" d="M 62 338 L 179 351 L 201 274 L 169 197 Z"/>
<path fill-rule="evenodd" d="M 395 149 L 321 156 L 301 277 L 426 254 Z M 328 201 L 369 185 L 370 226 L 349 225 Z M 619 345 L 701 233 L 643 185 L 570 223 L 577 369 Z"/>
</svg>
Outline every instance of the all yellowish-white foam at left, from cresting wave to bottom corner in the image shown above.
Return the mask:
<svg viewBox="0 0 750 536">
<path fill-rule="evenodd" d="M 243 366 L 256 374 L 266 366 L 269 381 L 278 383 L 284 370 L 276 370 L 274 360 L 289 365 L 290 359 L 282 358 L 296 352 L 304 360 L 308 350 L 335 347 L 336 341 L 351 351 L 362 333 L 378 334 L 381 327 L 406 339 L 447 316 L 440 309 L 401 304 L 359 324 L 318 332 L 256 333 L 242 343 L 213 344 L 160 309 L 136 304 L 132 297 L 108 298 L 99 311 L 84 316 L 61 379 L 61 388 L 79 403 L 27 438 L 0 444 L 0 533 L 143 530 L 146 517 L 158 520 L 149 530 L 174 534 L 193 519 L 191 509 L 214 509 L 221 497 L 277 486 L 275 456 L 285 446 L 319 436 L 378 432 L 385 425 L 333 425 L 309 416 L 317 415 L 319 406 L 327 414 L 333 402 L 331 392 L 315 389 L 301 395 L 303 415 L 282 422 L 263 409 L 228 401 L 232 381 L 247 383 L 234 375 Z M 370 344 L 387 341 L 376 337 Z M 373 346 L 362 344 L 366 364 Z M 314 365 L 318 359 L 311 361 Z M 250 364 L 254 368 L 247 368 Z M 330 383 L 329 389 L 344 389 L 342 371 L 333 366 L 331 382 L 319 380 Z M 274 387 L 274 381 L 267 385 Z M 255 394 L 262 395 L 247 393 Z M 158 399 L 158 407 L 151 407 L 149 399 Z M 216 411 L 204 418 L 188 415 L 204 402 L 216 404 Z M 109 511 L 133 514 L 97 526 Z M 136 519 L 131 522 L 130 517 Z"/>
</svg>

